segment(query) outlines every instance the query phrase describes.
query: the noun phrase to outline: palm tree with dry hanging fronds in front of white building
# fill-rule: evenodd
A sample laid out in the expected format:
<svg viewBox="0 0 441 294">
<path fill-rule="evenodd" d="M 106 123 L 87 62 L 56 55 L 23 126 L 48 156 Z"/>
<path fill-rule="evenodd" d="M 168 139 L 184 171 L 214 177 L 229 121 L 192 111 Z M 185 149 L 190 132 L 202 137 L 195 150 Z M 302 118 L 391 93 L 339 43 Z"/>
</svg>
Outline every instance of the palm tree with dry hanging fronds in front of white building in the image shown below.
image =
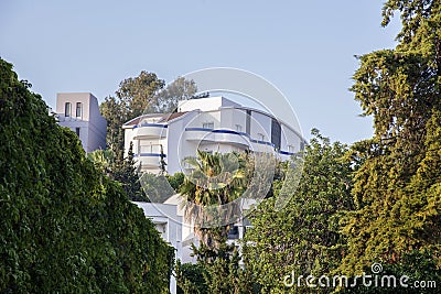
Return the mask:
<svg viewBox="0 0 441 294">
<path fill-rule="evenodd" d="M 194 222 L 194 232 L 209 247 L 219 246 L 229 224 L 240 217 L 238 199 L 247 189 L 252 173 L 247 153 L 208 153 L 197 151 L 196 157 L 184 160 L 192 172 L 181 186 L 186 199 L 184 217 Z M 217 230 L 208 229 L 219 227 Z M 222 238 L 220 238 L 222 239 Z"/>
</svg>

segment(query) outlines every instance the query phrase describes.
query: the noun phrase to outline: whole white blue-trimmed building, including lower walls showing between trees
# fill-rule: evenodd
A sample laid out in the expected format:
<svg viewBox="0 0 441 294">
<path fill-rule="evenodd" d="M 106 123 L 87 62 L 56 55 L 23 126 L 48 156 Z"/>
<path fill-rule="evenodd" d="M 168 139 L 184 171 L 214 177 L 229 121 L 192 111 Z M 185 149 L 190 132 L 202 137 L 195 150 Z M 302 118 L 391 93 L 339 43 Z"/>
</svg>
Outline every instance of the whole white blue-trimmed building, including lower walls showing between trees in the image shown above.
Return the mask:
<svg viewBox="0 0 441 294">
<path fill-rule="evenodd" d="M 197 150 L 207 152 L 249 151 L 276 154 L 280 160 L 303 150 L 305 140 L 291 126 L 270 113 L 244 107 L 225 97 L 180 101 L 173 113 L 150 113 L 122 126 L 125 152 L 132 144 L 141 172 L 158 174 L 161 161 L 169 174 L 187 174 L 184 159 Z M 161 203 L 136 203 L 155 225 L 162 238 L 176 249 L 181 262 L 195 262 L 191 244 L 198 246 L 193 225 L 184 219 L 179 194 Z M 250 202 L 252 203 L 252 200 Z M 228 242 L 241 239 L 251 224 L 244 218 L 232 225 Z M 237 244 L 237 242 L 236 242 Z M 174 277 L 171 293 L 175 293 Z"/>
</svg>

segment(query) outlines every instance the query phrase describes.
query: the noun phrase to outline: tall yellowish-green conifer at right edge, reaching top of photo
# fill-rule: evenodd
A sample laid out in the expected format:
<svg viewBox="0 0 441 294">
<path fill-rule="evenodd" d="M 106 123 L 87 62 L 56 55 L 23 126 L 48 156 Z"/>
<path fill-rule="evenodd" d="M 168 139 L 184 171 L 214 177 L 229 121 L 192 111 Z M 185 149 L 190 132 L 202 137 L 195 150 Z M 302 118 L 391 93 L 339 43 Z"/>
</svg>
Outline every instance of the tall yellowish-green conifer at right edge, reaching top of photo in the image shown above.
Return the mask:
<svg viewBox="0 0 441 294">
<path fill-rule="evenodd" d="M 420 250 L 440 260 L 441 3 L 388 0 L 402 29 L 394 50 L 359 57 L 352 90 L 375 135 L 353 146 L 356 211 L 342 225 L 348 250 L 340 269 L 361 272 L 373 262 L 399 263 Z"/>
</svg>

